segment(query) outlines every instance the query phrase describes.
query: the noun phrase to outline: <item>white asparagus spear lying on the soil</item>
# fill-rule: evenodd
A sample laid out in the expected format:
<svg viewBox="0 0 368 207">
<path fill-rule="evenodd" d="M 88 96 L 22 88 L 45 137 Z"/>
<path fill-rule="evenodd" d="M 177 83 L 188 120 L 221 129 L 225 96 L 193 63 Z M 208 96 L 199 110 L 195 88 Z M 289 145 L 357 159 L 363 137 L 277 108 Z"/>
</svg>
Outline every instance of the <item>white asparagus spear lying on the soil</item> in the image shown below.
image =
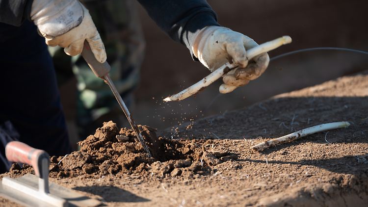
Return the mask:
<svg viewBox="0 0 368 207">
<path fill-rule="evenodd" d="M 321 125 L 307 128 L 307 129 L 302 129 L 302 130 L 296 131 L 294 133 L 291 133 L 291 134 L 288 134 L 288 135 L 285 135 L 285 136 L 282 136 L 276 139 L 271 139 L 271 140 L 262 142 L 260 144 L 250 147 L 250 149 L 258 152 L 258 151 L 267 149 L 272 146 L 276 146 L 276 145 L 286 143 L 286 142 L 291 142 L 293 140 L 299 139 L 300 137 L 308 136 L 316 132 L 330 130 L 330 129 L 347 128 L 349 126 L 350 126 L 349 122 L 332 122 L 332 123 L 327 123 L 327 124 L 321 124 Z"/>
</svg>

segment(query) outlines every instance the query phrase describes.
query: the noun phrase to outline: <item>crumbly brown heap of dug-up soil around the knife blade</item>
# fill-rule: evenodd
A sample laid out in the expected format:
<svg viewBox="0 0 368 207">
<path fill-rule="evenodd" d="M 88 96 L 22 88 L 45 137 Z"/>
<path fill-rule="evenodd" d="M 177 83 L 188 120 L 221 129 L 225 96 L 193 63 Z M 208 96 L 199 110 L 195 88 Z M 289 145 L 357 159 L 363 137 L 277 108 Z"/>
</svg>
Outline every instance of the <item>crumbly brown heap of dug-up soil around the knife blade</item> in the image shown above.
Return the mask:
<svg viewBox="0 0 368 207">
<path fill-rule="evenodd" d="M 237 159 L 229 151 L 211 151 L 211 140 L 171 140 L 157 137 L 156 129 L 139 126 L 152 152 L 148 157 L 141 144 L 135 141 L 132 129 L 118 129 L 115 123 L 105 122 L 94 135 L 79 142 L 80 150 L 65 157 L 51 157 L 50 176 L 53 178 L 82 175 L 140 174 L 140 176 L 192 177 L 211 173 L 211 166 Z M 33 173 L 31 166 L 14 164 L 10 174 Z M 88 176 L 87 176 L 88 177 Z"/>
</svg>

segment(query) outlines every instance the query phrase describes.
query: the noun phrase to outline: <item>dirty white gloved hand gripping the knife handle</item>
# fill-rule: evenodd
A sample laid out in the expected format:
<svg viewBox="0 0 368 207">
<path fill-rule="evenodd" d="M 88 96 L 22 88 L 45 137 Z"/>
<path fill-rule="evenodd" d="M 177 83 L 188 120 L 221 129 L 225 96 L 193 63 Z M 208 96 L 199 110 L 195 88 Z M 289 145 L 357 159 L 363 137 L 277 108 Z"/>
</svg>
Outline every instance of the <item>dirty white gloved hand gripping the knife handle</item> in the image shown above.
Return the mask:
<svg viewBox="0 0 368 207">
<path fill-rule="evenodd" d="M 88 10 L 78 0 L 33 0 L 31 20 L 49 46 L 60 46 L 74 56 L 87 40 L 100 62 L 106 61 L 104 43 Z"/>
</svg>

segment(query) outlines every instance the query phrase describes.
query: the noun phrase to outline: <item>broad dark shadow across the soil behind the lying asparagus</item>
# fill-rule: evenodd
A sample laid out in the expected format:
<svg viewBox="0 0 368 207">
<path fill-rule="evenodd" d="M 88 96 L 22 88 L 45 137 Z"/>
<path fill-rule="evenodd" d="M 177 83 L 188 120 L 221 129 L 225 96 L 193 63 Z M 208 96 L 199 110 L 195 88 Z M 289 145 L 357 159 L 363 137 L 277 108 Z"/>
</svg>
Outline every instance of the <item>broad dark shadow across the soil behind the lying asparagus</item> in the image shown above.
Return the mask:
<svg viewBox="0 0 368 207">
<path fill-rule="evenodd" d="M 324 90 L 323 87 L 314 90 Z M 361 88 L 361 91 L 366 88 Z M 348 121 L 351 125 L 346 129 L 319 132 L 289 144 L 271 148 L 280 150 L 302 142 L 326 143 L 367 143 L 368 139 L 368 93 L 362 97 L 280 97 L 256 103 L 249 107 L 228 111 L 223 114 L 206 117 L 183 123 L 178 132 L 169 128 L 162 135 L 173 138 L 206 138 L 206 139 L 252 139 L 277 138 L 300 129 L 330 123 Z M 363 93 L 364 94 L 364 93 Z"/>
</svg>

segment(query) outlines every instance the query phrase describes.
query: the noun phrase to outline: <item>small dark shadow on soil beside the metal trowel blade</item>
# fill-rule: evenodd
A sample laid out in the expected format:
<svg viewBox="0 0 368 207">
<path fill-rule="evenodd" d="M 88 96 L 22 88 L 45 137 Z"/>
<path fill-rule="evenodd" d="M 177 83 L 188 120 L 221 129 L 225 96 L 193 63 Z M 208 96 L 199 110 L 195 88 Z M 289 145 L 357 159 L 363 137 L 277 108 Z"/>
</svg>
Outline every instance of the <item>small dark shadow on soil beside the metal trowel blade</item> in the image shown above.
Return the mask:
<svg viewBox="0 0 368 207">
<path fill-rule="evenodd" d="M 149 199 L 137 196 L 119 187 L 105 186 L 81 186 L 73 188 L 75 190 L 92 193 L 101 196 L 106 202 L 148 202 Z"/>
</svg>

